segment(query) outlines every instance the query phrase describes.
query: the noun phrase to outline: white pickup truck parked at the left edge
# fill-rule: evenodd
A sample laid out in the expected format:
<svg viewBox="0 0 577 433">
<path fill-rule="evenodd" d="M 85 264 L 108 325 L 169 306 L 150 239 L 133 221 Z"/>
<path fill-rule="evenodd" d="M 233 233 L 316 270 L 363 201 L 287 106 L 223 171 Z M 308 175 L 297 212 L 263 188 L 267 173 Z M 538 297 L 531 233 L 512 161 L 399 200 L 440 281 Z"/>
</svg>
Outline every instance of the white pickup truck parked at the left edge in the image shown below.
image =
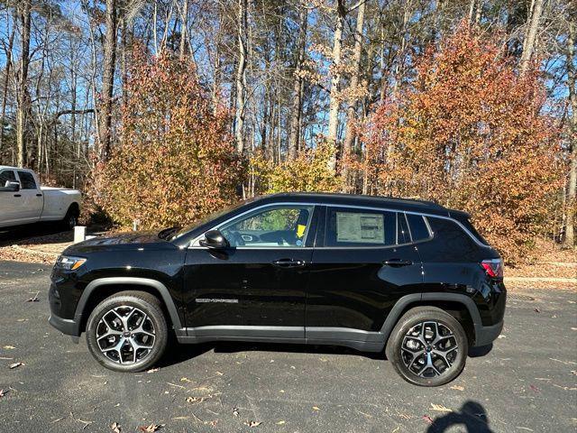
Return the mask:
<svg viewBox="0 0 577 433">
<path fill-rule="evenodd" d="M 34 171 L 0 165 L 0 227 L 60 221 L 72 229 L 80 201 L 76 189 L 41 187 Z"/>
</svg>

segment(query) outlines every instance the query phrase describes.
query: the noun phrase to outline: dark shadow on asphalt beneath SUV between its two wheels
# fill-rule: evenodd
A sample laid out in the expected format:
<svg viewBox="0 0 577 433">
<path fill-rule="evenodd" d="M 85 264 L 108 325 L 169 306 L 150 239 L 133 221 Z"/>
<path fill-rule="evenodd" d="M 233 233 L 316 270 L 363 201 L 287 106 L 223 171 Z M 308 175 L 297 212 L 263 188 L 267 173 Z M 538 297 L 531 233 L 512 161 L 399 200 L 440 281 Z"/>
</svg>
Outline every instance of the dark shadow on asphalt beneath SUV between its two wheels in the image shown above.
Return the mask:
<svg viewBox="0 0 577 433">
<path fill-rule="evenodd" d="M 316 354 L 316 355 L 357 355 L 369 359 L 383 360 L 384 351 L 371 353 L 359 352 L 352 348 L 336 345 L 286 345 L 282 343 L 252 343 L 252 342 L 211 342 L 195 345 L 169 344 L 169 349 L 158 363 L 159 367 L 180 364 L 206 352 L 215 351 L 217 354 L 233 354 L 237 352 L 274 352 L 286 354 Z"/>
</svg>

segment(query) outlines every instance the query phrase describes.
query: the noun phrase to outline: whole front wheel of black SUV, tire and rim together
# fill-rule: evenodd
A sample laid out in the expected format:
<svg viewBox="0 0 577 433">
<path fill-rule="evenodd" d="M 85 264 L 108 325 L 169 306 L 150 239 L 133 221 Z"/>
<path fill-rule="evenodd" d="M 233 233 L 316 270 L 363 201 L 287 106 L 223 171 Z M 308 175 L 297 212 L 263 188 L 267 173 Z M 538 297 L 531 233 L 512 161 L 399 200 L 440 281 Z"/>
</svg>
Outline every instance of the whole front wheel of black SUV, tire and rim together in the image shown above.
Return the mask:
<svg viewBox="0 0 577 433">
<path fill-rule="evenodd" d="M 100 302 L 87 321 L 87 345 L 98 363 L 116 372 L 142 372 L 164 353 L 168 327 L 159 299 L 122 291 Z"/>
</svg>

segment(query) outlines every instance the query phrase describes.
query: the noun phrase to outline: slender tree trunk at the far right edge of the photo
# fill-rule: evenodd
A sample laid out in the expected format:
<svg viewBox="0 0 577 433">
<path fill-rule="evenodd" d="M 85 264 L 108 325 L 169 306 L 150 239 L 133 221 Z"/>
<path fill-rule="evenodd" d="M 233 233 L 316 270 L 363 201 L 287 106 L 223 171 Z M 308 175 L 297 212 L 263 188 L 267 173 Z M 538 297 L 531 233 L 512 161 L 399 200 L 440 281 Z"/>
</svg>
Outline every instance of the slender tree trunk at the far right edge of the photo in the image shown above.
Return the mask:
<svg viewBox="0 0 577 433">
<path fill-rule="evenodd" d="M 567 188 L 567 202 L 569 215 L 565 230 L 565 244 L 572 247 L 575 244 L 575 205 L 577 204 L 577 94 L 575 94 L 575 23 L 569 23 L 567 35 L 567 85 L 569 86 L 569 102 L 571 104 L 571 155 L 569 169 L 569 185 Z"/>
</svg>

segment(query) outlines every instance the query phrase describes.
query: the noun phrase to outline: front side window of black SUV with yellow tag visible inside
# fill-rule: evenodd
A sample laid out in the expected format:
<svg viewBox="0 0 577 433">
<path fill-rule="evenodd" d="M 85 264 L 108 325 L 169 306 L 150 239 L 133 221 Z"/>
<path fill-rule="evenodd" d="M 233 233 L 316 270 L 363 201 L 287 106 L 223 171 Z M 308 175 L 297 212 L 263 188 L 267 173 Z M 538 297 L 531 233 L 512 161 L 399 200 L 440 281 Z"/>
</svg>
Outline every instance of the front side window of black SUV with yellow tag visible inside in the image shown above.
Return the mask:
<svg viewBox="0 0 577 433">
<path fill-rule="evenodd" d="M 231 246 L 303 247 L 313 207 L 266 207 L 220 227 Z"/>
</svg>

